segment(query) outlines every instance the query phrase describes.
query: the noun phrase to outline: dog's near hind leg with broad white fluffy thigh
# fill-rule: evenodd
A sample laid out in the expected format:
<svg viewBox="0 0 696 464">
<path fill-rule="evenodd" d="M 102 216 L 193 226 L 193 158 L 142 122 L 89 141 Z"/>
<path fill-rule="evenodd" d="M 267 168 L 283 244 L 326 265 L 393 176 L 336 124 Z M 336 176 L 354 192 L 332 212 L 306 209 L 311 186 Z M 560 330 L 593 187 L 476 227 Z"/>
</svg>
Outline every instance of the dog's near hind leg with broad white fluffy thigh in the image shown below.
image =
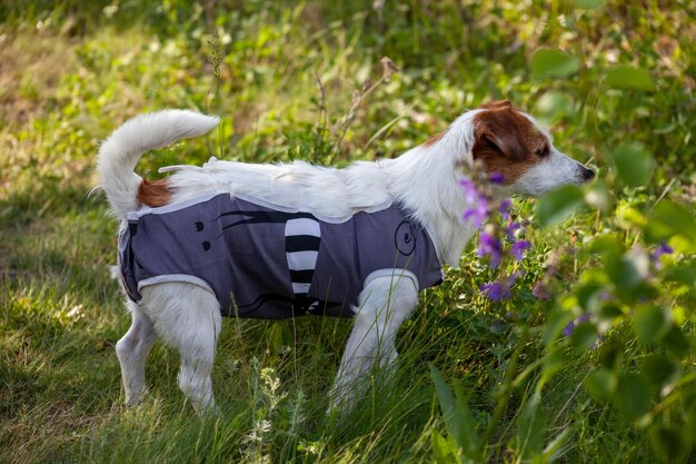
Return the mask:
<svg viewBox="0 0 696 464">
<path fill-rule="evenodd" d="M 210 373 L 222 324 L 215 295 L 186 283 L 148 286 L 141 294 L 157 333 L 181 354 L 179 387 L 199 414 L 215 411 Z"/>
</svg>

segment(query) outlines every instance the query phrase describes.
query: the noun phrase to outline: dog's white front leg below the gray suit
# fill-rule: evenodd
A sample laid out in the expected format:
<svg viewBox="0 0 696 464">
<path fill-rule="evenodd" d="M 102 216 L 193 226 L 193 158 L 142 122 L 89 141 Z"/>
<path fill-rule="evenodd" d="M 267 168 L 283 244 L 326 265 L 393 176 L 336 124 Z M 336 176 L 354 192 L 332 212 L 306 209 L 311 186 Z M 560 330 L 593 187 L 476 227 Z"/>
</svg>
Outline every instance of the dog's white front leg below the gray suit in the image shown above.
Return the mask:
<svg viewBox="0 0 696 464">
<path fill-rule="evenodd" d="M 342 413 L 352 409 L 375 365 L 390 368 L 397 356 L 396 333 L 418 303 L 414 280 L 396 273 L 370 280 L 360 293 L 360 306 L 331 392 L 331 407 Z"/>
</svg>

